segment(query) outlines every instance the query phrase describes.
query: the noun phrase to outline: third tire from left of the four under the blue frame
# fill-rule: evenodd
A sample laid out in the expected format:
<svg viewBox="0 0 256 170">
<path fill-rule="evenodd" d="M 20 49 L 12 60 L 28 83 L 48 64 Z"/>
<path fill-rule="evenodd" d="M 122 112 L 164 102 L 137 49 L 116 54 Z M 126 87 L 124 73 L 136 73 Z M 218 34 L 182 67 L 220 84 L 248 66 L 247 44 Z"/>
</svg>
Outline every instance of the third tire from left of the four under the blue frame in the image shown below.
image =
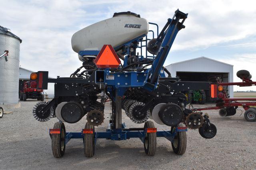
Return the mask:
<svg viewBox="0 0 256 170">
<path fill-rule="evenodd" d="M 155 128 L 155 126 L 152 121 L 146 121 L 144 128 Z M 145 134 L 144 150 L 148 156 L 154 156 L 156 152 L 156 133 Z"/>
</svg>

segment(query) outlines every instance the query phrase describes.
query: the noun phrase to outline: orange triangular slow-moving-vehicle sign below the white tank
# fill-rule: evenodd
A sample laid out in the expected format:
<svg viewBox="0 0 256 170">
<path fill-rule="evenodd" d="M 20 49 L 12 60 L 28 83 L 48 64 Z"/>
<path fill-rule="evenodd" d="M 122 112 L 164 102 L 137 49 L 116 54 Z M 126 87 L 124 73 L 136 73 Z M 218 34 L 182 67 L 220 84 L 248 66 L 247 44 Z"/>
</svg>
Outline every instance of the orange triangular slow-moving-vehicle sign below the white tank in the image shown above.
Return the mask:
<svg viewBox="0 0 256 170">
<path fill-rule="evenodd" d="M 118 68 L 121 61 L 111 45 L 103 45 L 94 63 L 98 68 Z"/>
</svg>

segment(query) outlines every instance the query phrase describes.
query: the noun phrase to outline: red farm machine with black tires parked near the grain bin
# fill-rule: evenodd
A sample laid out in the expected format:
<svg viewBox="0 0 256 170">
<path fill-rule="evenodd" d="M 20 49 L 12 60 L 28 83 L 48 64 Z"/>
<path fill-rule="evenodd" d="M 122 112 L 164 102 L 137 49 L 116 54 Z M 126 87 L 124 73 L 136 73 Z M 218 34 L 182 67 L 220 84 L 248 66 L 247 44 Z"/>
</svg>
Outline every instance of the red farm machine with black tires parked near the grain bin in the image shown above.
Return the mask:
<svg viewBox="0 0 256 170">
<path fill-rule="evenodd" d="M 23 88 L 20 90 L 20 100 L 26 101 L 30 98 L 44 101 L 44 94 L 42 94 L 43 90 L 38 90 L 36 86 L 36 81 L 24 82 Z"/>
</svg>

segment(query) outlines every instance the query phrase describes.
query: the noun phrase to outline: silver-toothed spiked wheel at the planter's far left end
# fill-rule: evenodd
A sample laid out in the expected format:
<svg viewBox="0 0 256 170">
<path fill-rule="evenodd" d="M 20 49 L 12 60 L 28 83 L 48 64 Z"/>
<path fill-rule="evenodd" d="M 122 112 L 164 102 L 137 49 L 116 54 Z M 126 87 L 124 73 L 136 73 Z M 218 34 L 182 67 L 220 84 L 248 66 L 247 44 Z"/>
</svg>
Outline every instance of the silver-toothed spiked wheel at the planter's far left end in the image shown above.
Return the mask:
<svg viewBox="0 0 256 170">
<path fill-rule="evenodd" d="M 48 111 L 46 111 L 45 113 L 40 112 L 47 104 L 48 104 L 48 102 L 38 102 L 34 106 L 33 116 L 36 120 L 44 122 L 44 121 L 48 121 L 52 117 L 54 117 L 52 107 Z"/>
</svg>

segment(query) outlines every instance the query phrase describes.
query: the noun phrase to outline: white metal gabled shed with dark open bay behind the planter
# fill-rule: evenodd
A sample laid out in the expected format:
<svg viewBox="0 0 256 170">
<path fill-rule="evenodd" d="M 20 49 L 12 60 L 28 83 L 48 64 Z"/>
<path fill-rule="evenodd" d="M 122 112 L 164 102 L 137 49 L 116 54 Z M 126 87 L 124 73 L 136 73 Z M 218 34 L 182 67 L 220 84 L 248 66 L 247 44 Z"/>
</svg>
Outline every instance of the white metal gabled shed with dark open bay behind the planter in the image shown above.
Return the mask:
<svg viewBox="0 0 256 170">
<path fill-rule="evenodd" d="M 233 82 L 233 65 L 199 57 L 165 66 L 172 77 L 179 76 L 183 81 L 212 81 L 222 77 L 223 82 Z M 234 96 L 233 86 L 228 87 L 230 97 Z"/>
</svg>

